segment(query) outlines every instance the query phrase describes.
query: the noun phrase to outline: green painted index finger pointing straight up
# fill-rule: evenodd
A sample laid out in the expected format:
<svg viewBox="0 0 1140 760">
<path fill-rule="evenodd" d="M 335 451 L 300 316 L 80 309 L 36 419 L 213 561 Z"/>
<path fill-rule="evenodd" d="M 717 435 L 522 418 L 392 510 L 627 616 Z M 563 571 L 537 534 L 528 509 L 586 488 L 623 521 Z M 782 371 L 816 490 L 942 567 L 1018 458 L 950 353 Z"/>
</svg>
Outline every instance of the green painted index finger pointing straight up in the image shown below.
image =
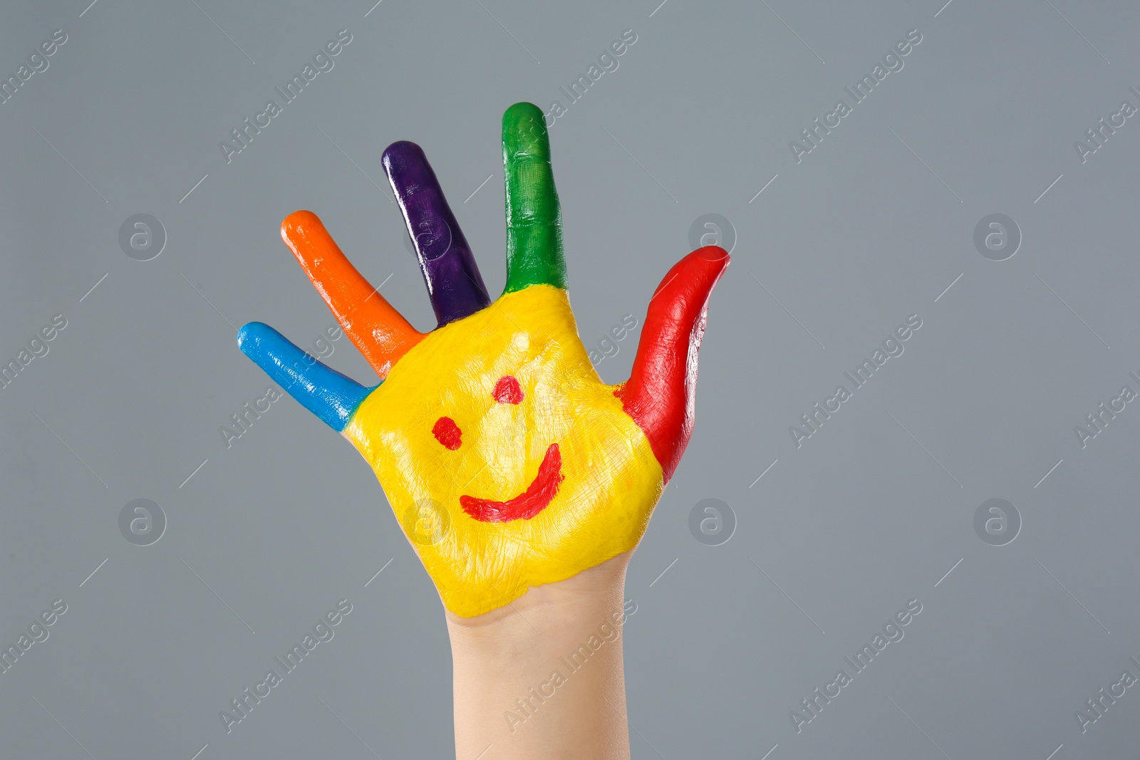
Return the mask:
<svg viewBox="0 0 1140 760">
<path fill-rule="evenodd" d="M 506 175 L 506 288 L 528 285 L 565 288 L 562 212 L 554 189 L 551 140 L 543 112 L 516 103 L 503 114 L 503 170 Z"/>
</svg>

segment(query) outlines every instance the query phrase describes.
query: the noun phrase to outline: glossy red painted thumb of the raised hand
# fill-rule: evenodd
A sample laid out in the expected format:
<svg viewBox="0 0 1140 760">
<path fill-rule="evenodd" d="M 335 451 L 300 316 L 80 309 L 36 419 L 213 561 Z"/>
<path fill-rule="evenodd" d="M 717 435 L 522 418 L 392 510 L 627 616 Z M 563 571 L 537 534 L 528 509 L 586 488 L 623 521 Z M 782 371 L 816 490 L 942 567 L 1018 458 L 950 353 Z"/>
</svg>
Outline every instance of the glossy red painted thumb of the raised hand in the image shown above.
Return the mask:
<svg viewBox="0 0 1140 760">
<path fill-rule="evenodd" d="M 666 482 L 693 432 L 697 351 L 709 295 L 727 267 L 728 253 L 715 245 L 674 264 L 650 299 L 629 381 L 614 392 L 645 432 Z"/>
</svg>

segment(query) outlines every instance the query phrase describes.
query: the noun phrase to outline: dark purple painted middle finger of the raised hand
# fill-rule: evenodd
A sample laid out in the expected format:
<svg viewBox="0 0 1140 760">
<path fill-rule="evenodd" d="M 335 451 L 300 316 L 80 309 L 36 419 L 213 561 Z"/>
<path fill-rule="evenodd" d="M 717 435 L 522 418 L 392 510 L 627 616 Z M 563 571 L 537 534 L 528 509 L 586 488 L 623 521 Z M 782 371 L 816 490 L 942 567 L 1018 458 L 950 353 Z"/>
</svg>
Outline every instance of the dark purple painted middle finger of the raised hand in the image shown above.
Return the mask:
<svg viewBox="0 0 1140 760">
<path fill-rule="evenodd" d="M 382 160 L 440 326 L 490 305 L 475 258 L 423 149 L 400 140 L 388 146 Z"/>
</svg>

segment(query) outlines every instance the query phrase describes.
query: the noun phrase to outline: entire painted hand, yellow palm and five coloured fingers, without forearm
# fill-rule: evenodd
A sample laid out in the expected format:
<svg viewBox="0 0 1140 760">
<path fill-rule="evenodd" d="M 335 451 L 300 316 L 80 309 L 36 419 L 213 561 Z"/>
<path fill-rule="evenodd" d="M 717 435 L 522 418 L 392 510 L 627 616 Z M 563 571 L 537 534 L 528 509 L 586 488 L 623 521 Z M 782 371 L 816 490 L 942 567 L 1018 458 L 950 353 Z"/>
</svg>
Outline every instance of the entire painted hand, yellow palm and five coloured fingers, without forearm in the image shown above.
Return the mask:
<svg viewBox="0 0 1140 760">
<path fill-rule="evenodd" d="M 401 141 L 383 154 L 438 320 L 427 333 L 368 284 L 315 214 L 282 223 L 378 385 L 349 379 L 268 325 L 250 322 L 237 336 L 364 455 L 445 606 L 461 616 L 636 547 L 692 432 L 708 300 L 728 264 L 708 246 L 674 265 L 650 300 L 629 379 L 606 385 L 570 309 L 536 106 L 504 114 L 503 161 L 507 277 L 492 301 L 423 150 Z"/>
</svg>

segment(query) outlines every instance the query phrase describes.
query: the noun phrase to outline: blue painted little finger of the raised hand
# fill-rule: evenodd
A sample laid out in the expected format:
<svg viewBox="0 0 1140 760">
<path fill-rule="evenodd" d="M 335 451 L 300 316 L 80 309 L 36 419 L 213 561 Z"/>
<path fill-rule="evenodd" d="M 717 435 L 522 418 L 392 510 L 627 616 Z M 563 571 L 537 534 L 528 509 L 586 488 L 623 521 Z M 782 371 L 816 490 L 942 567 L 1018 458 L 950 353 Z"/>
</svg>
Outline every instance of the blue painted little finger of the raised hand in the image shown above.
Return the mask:
<svg viewBox="0 0 1140 760">
<path fill-rule="evenodd" d="M 337 432 L 344 430 L 356 408 L 375 390 L 325 366 L 263 322 L 243 325 L 237 330 L 237 348 L 302 407 Z"/>
</svg>

